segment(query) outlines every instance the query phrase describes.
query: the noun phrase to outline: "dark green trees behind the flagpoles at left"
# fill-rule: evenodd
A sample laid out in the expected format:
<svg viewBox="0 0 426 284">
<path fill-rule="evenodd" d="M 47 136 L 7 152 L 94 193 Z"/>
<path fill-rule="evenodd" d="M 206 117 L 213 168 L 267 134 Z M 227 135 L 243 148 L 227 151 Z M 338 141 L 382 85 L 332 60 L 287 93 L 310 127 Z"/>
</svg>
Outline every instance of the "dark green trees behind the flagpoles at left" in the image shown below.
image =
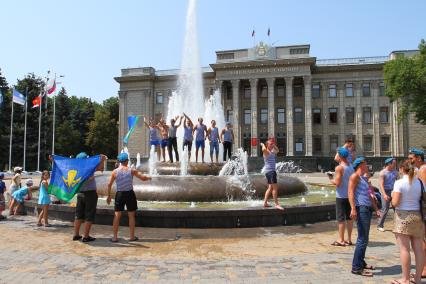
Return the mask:
<svg viewBox="0 0 426 284">
<path fill-rule="evenodd" d="M 44 90 L 44 80 L 34 74 L 28 74 L 18 80 L 16 88 L 25 95 L 27 102 L 27 148 L 26 169 L 37 168 L 39 108 L 32 108 L 32 100 Z M 0 106 L 0 171 L 6 169 L 9 161 L 10 114 L 12 87 L 9 87 L 0 70 L 0 90 L 3 104 Z M 47 104 L 46 104 L 47 100 Z M 89 98 L 69 97 L 64 88 L 55 97 L 55 154 L 75 156 L 85 151 L 94 154 L 115 156 L 118 143 L 118 98 L 112 97 L 102 105 Z M 14 104 L 12 167 L 22 166 L 24 141 L 23 106 Z M 41 116 L 41 155 L 40 169 L 48 168 L 46 157 L 52 153 L 53 96 L 45 96 L 42 102 Z"/>
</svg>

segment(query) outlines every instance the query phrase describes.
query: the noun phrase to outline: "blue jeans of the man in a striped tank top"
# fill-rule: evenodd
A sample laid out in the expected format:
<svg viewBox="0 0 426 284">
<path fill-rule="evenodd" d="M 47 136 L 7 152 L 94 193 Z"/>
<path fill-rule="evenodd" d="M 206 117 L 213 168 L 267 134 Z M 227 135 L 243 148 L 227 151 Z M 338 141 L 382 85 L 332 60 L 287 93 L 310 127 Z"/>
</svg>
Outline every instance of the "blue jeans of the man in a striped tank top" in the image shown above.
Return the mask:
<svg viewBox="0 0 426 284">
<path fill-rule="evenodd" d="M 373 216 L 373 210 L 369 206 L 357 206 L 356 212 L 358 238 L 356 240 L 354 258 L 352 260 L 352 271 L 360 271 L 364 269 L 365 251 L 367 250 L 368 238 L 370 235 L 370 223 Z"/>
</svg>

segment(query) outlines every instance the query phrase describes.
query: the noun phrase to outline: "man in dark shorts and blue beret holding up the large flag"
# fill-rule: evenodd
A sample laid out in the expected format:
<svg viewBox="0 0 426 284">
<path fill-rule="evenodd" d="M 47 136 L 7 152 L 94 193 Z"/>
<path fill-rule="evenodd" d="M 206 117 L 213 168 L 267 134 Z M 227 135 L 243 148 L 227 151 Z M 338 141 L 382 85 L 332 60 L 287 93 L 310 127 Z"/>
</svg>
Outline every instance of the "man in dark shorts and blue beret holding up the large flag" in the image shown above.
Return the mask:
<svg viewBox="0 0 426 284">
<path fill-rule="evenodd" d="M 77 159 L 86 159 L 89 156 L 81 152 L 76 156 Z M 97 171 L 103 171 L 103 165 L 106 160 L 105 155 L 101 155 L 101 161 L 96 168 Z M 73 241 L 81 239 L 83 243 L 93 242 L 96 238 L 90 236 L 90 228 L 95 221 L 96 206 L 98 205 L 98 194 L 96 193 L 95 176 L 91 176 L 83 183 L 80 192 L 77 193 L 77 206 L 75 208 L 74 236 Z M 80 227 L 84 222 L 84 233 L 80 235 Z"/>
</svg>

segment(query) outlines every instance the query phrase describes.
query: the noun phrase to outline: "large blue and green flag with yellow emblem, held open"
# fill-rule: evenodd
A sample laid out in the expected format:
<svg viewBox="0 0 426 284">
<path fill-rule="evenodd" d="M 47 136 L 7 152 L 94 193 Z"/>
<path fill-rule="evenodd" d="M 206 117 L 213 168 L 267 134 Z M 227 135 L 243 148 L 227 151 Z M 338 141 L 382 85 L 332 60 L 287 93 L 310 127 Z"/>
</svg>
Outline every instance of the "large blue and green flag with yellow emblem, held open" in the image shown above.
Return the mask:
<svg viewBox="0 0 426 284">
<path fill-rule="evenodd" d="M 81 185 L 95 173 L 101 156 L 71 159 L 54 155 L 53 161 L 49 194 L 69 202 L 80 191 Z"/>
</svg>

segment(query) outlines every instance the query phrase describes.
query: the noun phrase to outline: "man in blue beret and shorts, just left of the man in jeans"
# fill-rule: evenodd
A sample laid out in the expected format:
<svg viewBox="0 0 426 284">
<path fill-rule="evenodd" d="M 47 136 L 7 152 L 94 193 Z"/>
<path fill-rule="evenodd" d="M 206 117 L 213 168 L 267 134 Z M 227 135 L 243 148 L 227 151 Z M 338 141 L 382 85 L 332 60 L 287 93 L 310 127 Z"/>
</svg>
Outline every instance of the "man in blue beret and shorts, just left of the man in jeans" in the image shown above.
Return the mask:
<svg viewBox="0 0 426 284">
<path fill-rule="evenodd" d="M 351 205 L 348 199 L 349 178 L 354 173 L 352 165 L 348 162 L 350 152 L 345 147 L 337 149 L 335 159 L 339 165 L 335 168 L 335 177 L 331 175 L 330 182 L 336 186 L 336 220 L 338 224 L 338 240 L 332 243 L 334 246 L 352 245 L 353 220 L 350 218 Z M 348 239 L 345 241 L 345 225 Z"/>
</svg>

